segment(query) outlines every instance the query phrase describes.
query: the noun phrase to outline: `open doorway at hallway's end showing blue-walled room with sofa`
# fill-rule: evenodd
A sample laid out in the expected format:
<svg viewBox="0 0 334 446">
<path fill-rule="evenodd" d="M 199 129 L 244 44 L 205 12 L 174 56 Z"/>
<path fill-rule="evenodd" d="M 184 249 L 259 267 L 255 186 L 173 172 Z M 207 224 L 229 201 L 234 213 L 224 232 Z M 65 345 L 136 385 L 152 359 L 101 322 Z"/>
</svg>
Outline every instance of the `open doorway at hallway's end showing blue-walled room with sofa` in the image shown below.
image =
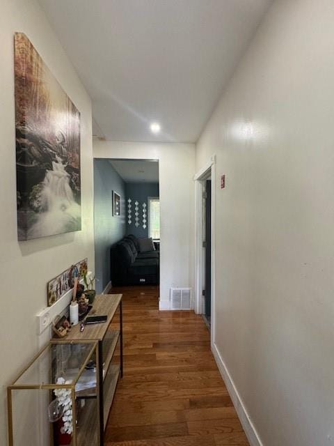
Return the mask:
<svg viewBox="0 0 334 446">
<path fill-rule="evenodd" d="M 94 185 L 98 292 L 122 287 L 139 298 L 153 292 L 158 308 L 159 161 L 96 159 Z"/>
</svg>

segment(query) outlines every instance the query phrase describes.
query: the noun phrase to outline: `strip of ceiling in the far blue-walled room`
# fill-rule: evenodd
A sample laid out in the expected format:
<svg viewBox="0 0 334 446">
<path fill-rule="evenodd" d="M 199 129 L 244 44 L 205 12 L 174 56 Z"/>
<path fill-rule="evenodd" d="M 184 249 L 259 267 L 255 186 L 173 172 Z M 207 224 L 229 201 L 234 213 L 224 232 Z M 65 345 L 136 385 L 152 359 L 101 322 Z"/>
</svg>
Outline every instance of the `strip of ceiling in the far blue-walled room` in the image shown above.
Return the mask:
<svg viewBox="0 0 334 446">
<path fill-rule="evenodd" d="M 125 183 L 159 183 L 159 162 L 156 160 L 109 160 Z"/>
</svg>

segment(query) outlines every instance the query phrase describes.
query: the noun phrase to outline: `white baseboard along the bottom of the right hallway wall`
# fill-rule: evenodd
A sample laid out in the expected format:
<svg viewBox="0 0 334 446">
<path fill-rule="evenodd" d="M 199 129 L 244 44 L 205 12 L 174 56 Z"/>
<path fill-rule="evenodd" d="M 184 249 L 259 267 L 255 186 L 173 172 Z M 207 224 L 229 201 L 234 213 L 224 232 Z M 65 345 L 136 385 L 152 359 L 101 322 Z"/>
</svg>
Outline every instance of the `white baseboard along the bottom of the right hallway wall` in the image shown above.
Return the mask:
<svg viewBox="0 0 334 446">
<path fill-rule="evenodd" d="M 223 361 L 223 358 L 221 357 L 221 354 L 218 351 L 216 344 L 212 344 L 212 353 L 214 354 L 214 359 L 216 360 L 216 364 L 219 371 L 221 372 L 221 376 L 223 377 L 225 385 L 228 388 L 228 393 L 230 394 L 230 397 L 234 404 L 234 408 L 235 410 L 237 410 L 237 414 L 239 416 L 242 427 L 244 428 L 250 446 L 264 446 L 262 441 L 260 440 L 260 436 L 257 433 L 253 422 L 250 420 L 244 403 L 241 400 L 239 392 L 237 391 L 237 387 L 235 387 L 234 385 L 232 377 L 230 376 L 230 373 L 225 365 L 225 362 Z"/>
</svg>

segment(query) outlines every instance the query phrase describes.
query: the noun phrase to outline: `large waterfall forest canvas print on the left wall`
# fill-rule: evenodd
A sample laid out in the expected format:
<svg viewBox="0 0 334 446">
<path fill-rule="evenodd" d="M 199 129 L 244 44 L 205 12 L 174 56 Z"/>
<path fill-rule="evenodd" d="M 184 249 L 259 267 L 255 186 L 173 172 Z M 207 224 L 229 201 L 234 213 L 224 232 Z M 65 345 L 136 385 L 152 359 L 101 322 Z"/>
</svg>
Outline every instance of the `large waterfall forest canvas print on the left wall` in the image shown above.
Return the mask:
<svg viewBox="0 0 334 446">
<path fill-rule="evenodd" d="M 81 230 L 80 113 L 24 33 L 15 33 L 19 240 Z"/>
</svg>

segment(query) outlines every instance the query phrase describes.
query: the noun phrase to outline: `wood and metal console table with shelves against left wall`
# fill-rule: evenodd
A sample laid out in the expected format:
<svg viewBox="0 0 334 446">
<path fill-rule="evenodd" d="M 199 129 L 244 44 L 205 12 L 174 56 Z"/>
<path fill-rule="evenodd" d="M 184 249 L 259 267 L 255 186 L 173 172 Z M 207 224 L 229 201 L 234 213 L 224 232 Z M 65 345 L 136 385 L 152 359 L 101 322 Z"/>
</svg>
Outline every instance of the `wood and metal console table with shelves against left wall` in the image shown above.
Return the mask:
<svg viewBox="0 0 334 446">
<path fill-rule="evenodd" d="M 51 339 L 7 387 L 10 446 L 22 445 L 24 435 L 32 444 L 20 419 L 26 398 L 30 406 L 37 403 L 31 410 L 38 408 L 33 420 L 39 423 L 40 431 L 33 435 L 38 435 L 43 444 L 63 444 L 58 436 L 67 423 L 67 437 L 72 432 L 71 446 L 104 445 L 104 429 L 118 378 L 123 374 L 122 295 L 97 295 L 89 314 L 106 315 L 106 322 L 86 325 L 83 332 L 78 324 L 64 338 Z M 72 416 L 70 421 L 62 419 L 65 424 L 54 429 L 54 422 L 63 416 L 57 417 L 53 409 L 54 420 L 48 420 L 49 404 L 56 400 L 57 391 L 67 392 L 66 410 L 71 410 Z M 25 410 L 29 411 L 29 406 Z"/>
</svg>

